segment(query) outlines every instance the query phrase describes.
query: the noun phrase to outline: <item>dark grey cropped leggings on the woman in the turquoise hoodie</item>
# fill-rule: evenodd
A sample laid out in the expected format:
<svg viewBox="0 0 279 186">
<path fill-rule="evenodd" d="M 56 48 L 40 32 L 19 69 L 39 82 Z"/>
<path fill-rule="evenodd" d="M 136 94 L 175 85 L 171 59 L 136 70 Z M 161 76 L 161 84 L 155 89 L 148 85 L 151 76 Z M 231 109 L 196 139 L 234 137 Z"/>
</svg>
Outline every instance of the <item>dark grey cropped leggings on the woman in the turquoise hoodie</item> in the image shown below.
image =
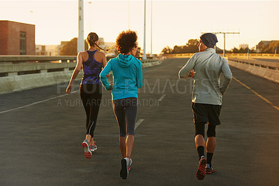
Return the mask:
<svg viewBox="0 0 279 186">
<path fill-rule="evenodd" d="M 129 97 L 112 101 L 116 120 L 119 124 L 119 136 L 135 135 L 137 117 L 137 98 Z"/>
</svg>

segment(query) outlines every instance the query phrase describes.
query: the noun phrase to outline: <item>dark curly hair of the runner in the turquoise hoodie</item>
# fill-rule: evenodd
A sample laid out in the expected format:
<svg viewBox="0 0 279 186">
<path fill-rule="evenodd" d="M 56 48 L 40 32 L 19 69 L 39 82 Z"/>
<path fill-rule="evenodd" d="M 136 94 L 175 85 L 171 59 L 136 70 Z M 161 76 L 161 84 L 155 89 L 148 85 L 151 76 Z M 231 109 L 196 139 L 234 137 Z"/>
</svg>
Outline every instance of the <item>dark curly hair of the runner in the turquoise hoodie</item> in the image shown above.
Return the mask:
<svg viewBox="0 0 279 186">
<path fill-rule="evenodd" d="M 127 54 L 132 51 L 133 48 L 137 47 L 137 32 L 122 31 L 116 38 L 116 48 L 121 54 Z"/>
</svg>

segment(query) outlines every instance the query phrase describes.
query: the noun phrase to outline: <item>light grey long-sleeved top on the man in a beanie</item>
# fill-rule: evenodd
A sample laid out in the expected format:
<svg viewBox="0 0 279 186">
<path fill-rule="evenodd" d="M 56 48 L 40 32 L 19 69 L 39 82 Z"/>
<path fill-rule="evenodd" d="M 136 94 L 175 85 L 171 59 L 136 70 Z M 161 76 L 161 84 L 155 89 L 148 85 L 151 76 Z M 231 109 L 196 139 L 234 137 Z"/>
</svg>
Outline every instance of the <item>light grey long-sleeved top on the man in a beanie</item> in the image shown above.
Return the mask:
<svg viewBox="0 0 279 186">
<path fill-rule="evenodd" d="M 197 52 L 188 60 L 179 71 L 179 78 L 186 76 L 191 70 L 195 71 L 192 101 L 222 105 L 222 94 L 232 80 L 227 59 L 216 54 L 213 48 L 206 48 L 204 52 Z M 220 85 L 221 73 L 225 78 L 223 85 Z"/>
</svg>

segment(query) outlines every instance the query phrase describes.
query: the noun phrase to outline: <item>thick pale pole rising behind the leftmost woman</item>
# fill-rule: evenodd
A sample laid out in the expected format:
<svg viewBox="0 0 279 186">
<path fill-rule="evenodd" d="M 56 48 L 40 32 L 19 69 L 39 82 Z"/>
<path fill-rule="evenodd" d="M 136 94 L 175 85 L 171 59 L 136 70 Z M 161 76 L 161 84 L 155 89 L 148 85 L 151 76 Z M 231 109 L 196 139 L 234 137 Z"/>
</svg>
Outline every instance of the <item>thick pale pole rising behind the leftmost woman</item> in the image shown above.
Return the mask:
<svg viewBox="0 0 279 186">
<path fill-rule="evenodd" d="M 84 15 L 83 15 L 83 0 L 79 0 L 79 31 L 77 38 L 77 53 L 84 51 Z"/>
</svg>

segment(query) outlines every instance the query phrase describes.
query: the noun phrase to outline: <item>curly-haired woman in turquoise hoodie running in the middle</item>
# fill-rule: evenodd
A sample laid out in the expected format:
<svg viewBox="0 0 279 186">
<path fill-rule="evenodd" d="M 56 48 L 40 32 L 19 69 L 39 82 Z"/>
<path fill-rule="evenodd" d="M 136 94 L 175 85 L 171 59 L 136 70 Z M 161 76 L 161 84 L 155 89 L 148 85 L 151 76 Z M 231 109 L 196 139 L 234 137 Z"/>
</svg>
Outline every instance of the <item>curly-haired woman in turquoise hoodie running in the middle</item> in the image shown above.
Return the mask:
<svg viewBox="0 0 279 186">
<path fill-rule="evenodd" d="M 119 145 L 121 150 L 122 179 L 128 177 L 132 165 L 131 153 L 134 145 L 135 120 L 137 117 L 137 88 L 142 87 L 142 64 L 135 58 L 137 34 L 135 31 L 122 31 L 116 38 L 116 48 L 120 54 L 110 59 L 100 73 L 100 80 L 107 90 L 112 90 L 112 103 L 119 124 Z M 112 71 L 113 84 L 106 75 Z"/>
</svg>

